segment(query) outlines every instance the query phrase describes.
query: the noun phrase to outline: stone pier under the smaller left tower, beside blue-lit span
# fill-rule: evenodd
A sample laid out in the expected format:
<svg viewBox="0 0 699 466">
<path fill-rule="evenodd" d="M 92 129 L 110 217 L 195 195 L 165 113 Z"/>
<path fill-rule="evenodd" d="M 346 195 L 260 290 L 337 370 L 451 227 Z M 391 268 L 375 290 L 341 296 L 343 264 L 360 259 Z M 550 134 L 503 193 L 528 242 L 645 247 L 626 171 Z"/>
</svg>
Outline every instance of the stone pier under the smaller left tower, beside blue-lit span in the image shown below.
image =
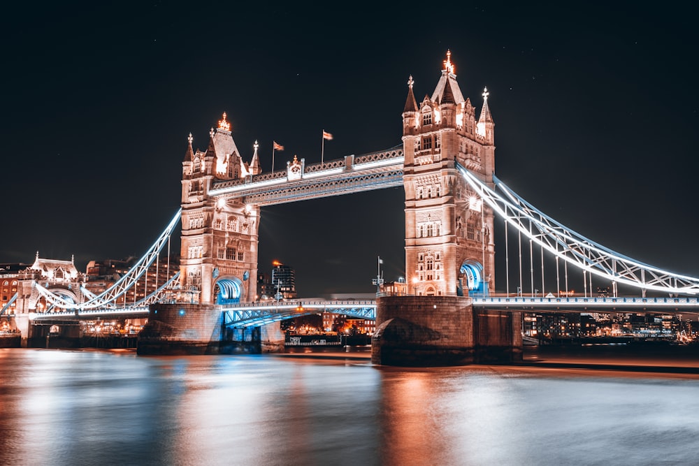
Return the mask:
<svg viewBox="0 0 699 466">
<path fill-rule="evenodd" d="M 280 324 L 259 328 L 224 326 L 222 307 L 204 304 L 154 304 L 138 335 L 139 355 L 259 354 L 284 349 Z"/>
</svg>

